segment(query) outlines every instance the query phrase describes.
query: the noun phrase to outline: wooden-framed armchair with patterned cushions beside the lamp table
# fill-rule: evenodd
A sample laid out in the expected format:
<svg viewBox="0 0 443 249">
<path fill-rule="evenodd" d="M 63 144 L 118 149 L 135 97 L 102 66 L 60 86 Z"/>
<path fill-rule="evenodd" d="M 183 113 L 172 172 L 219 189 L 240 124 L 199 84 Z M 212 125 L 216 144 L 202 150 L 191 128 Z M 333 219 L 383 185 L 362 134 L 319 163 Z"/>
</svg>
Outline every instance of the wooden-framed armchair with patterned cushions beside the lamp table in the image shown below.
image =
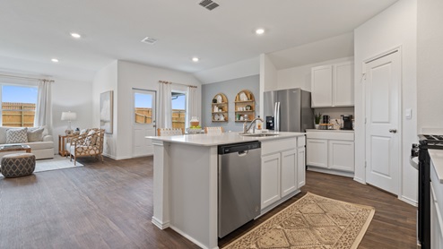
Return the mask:
<svg viewBox="0 0 443 249">
<path fill-rule="evenodd" d="M 79 157 L 93 156 L 101 159 L 103 162 L 103 140 L 105 136 L 104 129 L 92 128 L 88 133 L 83 133 L 71 138 L 69 143 L 70 160 L 74 158 L 74 165 Z"/>
</svg>

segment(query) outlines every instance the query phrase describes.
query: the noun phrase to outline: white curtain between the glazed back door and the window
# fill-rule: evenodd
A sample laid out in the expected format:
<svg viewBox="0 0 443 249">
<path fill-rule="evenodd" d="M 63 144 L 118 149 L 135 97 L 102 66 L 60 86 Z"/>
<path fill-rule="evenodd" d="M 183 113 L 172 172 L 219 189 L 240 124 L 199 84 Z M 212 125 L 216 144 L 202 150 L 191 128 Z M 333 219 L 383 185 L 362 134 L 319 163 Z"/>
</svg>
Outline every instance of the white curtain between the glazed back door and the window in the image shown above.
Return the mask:
<svg viewBox="0 0 443 249">
<path fill-rule="evenodd" d="M 170 83 L 159 83 L 159 119 L 157 128 L 172 128 L 172 90 Z"/>
</svg>

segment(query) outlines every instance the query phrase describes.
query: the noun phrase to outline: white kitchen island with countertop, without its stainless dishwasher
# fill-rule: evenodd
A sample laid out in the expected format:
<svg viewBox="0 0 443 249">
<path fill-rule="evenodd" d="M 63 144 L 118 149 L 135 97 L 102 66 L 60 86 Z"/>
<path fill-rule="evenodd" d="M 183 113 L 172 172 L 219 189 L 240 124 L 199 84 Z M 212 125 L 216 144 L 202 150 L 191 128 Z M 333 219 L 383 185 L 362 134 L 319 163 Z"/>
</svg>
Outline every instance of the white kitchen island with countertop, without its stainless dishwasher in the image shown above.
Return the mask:
<svg viewBox="0 0 443 249">
<path fill-rule="evenodd" d="M 217 148 L 222 144 L 262 143 L 262 214 L 300 193 L 305 183 L 304 133 L 273 134 L 146 137 L 154 145 L 152 223 L 172 228 L 202 248 L 218 248 Z"/>
</svg>

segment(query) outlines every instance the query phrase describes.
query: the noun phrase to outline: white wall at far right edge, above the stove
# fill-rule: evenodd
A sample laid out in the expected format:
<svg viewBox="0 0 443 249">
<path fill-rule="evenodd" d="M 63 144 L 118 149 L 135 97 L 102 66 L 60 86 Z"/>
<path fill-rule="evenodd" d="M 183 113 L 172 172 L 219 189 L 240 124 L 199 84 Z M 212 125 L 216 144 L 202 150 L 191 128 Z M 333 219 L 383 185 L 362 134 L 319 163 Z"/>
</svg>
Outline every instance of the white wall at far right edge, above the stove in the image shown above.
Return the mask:
<svg viewBox="0 0 443 249">
<path fill-rule="evenodd" d="M 418 2 L 418 132 L 443 128 L 443 1 Z"/>
</svg>

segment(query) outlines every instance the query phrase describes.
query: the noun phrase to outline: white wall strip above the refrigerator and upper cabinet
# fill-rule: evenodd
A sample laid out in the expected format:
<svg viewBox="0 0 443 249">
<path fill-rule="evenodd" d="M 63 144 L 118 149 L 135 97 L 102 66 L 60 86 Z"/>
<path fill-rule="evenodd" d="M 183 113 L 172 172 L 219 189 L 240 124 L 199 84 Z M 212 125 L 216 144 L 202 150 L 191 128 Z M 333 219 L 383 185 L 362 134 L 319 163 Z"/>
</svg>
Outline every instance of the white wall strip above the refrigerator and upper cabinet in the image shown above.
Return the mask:
<svg viewBox="0 0 443 249">
<path fill-rule="evenodd" d="M 353 61 L 353 57 L 343 57 L 334 60 L 328 60 L 316 64 L 305 64 L 277 71 L 277 89 L 300 88 L 311 91 L 311 73 L 310 69 L 314 66 L 324 64 L 335 64 L 346 61 Z"/>
</svg>

